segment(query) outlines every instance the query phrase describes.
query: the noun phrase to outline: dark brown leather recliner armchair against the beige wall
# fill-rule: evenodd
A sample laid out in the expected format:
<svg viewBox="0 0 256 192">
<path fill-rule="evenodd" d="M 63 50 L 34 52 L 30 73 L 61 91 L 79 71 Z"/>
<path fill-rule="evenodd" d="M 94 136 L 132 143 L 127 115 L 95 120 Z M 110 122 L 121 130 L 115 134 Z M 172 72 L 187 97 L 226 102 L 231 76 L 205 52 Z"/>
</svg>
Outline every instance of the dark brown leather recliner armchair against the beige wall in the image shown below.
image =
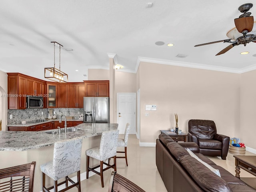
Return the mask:
<svg viewBox="0 0 256 192">
<path fill-rule="evenodd" d="M 192 119 L 188 121 L 188 142 L 195 142 L 199 152 L 208 156 L 221 156 L 226 159 L 230 138 L 217 134 L 212 120 Z"/>
</svg>

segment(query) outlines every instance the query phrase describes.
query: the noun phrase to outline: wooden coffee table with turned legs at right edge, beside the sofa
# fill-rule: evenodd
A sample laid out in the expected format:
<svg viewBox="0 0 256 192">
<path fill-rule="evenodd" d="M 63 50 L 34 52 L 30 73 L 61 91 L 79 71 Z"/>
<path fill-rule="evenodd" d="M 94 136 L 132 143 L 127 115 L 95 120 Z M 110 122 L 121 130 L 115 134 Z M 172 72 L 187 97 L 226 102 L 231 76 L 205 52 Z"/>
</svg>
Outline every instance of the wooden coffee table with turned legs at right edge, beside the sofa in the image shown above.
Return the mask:
<svg viewBox="0 0 256 192">
<path fill-rule="evenodd" d="M 240 178 L 240 168 L 256 176 L 256 156 L 234 155 L 236 165 L 236 177 Z M 240 178 L 243 182 L 256 189 L 256 178 Z"/>
</svg>

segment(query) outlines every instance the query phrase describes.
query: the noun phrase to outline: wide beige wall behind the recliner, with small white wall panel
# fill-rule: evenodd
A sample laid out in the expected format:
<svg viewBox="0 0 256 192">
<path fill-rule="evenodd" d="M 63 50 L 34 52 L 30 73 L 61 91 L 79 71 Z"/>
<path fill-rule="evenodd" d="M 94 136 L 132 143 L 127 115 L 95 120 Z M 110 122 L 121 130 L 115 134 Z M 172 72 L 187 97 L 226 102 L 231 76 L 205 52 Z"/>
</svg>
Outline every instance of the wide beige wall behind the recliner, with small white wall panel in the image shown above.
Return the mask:
<svg viewBox="0 0 256 192">
<path fill-rule="evenodd" d="M 163 64 L 140 63 L 140 142 L 155 142 L 159 130 L 188 120 L 214 120 L 217 131 L 230 137 L 240 127 L 240 74 Z M 145 105 L 156 105 L 146 111 Z M 145 116 L 145 113 L 149 116 Z"/>
</svg>

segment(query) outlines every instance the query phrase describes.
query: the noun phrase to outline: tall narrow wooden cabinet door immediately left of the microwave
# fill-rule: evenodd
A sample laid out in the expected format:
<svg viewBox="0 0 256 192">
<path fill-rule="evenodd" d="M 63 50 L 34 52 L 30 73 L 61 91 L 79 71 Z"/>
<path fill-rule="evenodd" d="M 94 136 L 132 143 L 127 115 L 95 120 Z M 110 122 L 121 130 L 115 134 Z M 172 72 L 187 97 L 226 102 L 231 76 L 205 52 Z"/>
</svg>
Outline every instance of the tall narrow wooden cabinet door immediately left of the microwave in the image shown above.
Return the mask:
<svg viewBox="0 0 256 192">
<path fill-rule="evenodd" d="M 18 109 L 26 109 L 27 107 L 26 82 L 26 78 L 18 77 Z"/>
</svg>

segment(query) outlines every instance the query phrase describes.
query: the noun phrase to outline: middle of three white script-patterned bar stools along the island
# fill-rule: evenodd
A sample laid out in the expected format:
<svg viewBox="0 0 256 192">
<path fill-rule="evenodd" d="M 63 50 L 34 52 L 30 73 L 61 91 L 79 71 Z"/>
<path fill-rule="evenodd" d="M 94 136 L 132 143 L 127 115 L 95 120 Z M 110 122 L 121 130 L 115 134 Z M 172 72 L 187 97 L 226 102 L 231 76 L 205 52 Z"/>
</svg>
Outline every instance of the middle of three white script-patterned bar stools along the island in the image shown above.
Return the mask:
<svg viewBox="0 0 256 192">
<path fill-rule="evenodd" d="M 89 177 L 89 171 L 92 171 L 101 178 L 101 186 L 104 187 L 103 181 L 103 172 L 108 170 L 109 168 L 114 168 L 116 171 L 116 145 L 118 139 L 119 130 L 109 130 L 102 132 L 101 139 L 100 139 L 100 146 L 94 147 L 91 149 L 86 150 L 86 179 Z M 90 157 L 95 158 L 100 161 L 100 165 L 95 166 L 94 168 L 90 168 Z M 114 157 L 114 164 L 110 165 L 109 163 L 104 162 L 110 157 Z M 107 167 L 103 169 L 103 164 Z M 100 167 L 100 172 L 97 172 L 95 169 Z"/>
</svg>

